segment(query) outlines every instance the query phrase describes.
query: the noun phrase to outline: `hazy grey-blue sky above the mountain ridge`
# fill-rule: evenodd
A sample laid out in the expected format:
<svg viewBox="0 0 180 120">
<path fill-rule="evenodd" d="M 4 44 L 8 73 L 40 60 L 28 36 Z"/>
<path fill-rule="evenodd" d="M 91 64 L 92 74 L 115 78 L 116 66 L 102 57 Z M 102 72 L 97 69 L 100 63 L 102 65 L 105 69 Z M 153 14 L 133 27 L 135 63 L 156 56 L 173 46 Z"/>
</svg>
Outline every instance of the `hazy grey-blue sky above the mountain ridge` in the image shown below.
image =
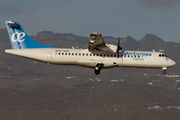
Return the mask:
<svg viewBox="0 0 180 120">
<path fill-rule="evenodd" d="M 27 34 L 41 31 L 89 37 L 155 34 L 180 42 L 180 0 L 1 0 L 0 28 L 21 23 Z"/>
</svg>

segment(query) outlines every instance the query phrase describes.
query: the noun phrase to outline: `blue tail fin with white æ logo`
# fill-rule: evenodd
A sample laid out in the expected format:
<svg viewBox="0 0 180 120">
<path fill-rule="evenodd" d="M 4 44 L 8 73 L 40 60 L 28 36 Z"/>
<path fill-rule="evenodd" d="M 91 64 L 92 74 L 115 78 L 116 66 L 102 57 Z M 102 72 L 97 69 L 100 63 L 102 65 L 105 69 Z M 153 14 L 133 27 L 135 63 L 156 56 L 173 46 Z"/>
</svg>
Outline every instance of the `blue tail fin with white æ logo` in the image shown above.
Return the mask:
<svg viewBox="0 0 180 120">
<path fill-rule="evenodd" d="M 6 27 L 13 49 L 54 48 L 34 41 L 24 32 L 18 22 L 6 21 Z"/>
</svg>

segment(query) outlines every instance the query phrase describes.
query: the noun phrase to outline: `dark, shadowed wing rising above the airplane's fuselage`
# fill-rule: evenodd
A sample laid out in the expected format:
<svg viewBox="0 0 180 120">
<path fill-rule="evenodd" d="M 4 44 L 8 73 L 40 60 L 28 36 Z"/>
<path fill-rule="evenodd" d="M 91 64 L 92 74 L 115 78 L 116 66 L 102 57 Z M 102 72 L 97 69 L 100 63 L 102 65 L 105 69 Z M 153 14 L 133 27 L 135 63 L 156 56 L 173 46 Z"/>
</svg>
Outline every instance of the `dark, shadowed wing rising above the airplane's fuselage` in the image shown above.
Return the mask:
<svg viewBox="0 0 180 120">
<path fill-rule="evenodd" d="M 101 33 L 91 33 L 88 43 L 89 51 L 101 51 L 101 48 L 106 47 Z"/>
</svg>

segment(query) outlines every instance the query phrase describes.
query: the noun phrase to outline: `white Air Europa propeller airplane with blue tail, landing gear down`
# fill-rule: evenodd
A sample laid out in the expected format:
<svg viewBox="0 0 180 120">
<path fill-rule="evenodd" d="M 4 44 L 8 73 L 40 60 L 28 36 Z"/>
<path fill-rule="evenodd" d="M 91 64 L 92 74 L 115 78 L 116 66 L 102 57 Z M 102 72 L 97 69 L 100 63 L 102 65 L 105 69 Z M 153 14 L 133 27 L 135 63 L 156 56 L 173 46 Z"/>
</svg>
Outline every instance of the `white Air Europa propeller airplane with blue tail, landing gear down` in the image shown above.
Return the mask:
<svg viewBox="0 0 180 120">
<path fill-rule="evenodd" d="M 176 64 L 161 52 L 122 51 L 120 39 L 117 46 L 105 44 L 101 33 L 90 34 L 87 49 L 56 48 L 33 40 L 16 21 L 5 23 L 12 45 L 12 49 L 5 49 L 5 53 L 48 64 L 94 68 L 96 75 L 101 69 L 114 67 L 157 68 L 166 74 L 166 69 Z"/>
</svg>

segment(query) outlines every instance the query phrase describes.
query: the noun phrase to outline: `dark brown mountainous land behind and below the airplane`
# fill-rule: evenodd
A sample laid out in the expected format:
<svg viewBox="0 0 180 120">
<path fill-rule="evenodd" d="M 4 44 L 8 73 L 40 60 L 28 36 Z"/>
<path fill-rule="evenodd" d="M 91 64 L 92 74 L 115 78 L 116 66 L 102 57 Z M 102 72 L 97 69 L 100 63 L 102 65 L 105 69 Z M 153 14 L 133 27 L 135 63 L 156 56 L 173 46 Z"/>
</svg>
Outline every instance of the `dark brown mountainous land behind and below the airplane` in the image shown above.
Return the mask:
<svg viewBox="0 0 180 120">
<path fill-rule="evenodd" d="M 38 32 L 37 42 L 55 47 L 87 48 L 88 37 L 71 33 Z M 117 45 L 118 38 L 103 37 Z M 179 77 L 166 77 L 161 69 L 112 68 L 100 75 L 79 66 L 51 65 L 5 54 L 11 49 L 6 29 L 0 29 L 0 119 L 152 120 L 179 119 Z M 176 61 L 168 75 L 180 74 L 180 43 L 164 42 L 147 34 L 137 41 L 121 38 L 123 50 L 162 51 Z M 100 80 L 100 81 L 97 81 Z M 116 82 L 111 82 L 111 81 Z M 148 84 L 152 83 L 152 84 Z M 163 109 L 147 110 L 162 106 Z"/>
</svg>

